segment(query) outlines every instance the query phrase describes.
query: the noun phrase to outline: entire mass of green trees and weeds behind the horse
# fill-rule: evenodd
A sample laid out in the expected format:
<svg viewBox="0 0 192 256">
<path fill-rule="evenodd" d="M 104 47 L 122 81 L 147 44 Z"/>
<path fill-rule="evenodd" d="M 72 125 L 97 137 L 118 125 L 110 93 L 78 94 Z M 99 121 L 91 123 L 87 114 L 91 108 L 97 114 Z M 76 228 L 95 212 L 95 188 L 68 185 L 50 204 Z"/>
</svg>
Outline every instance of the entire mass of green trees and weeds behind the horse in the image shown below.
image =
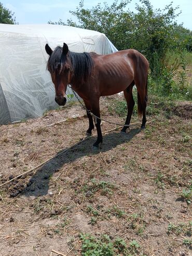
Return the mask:
<svg viewBox="0 0 192 256">
<path fill-rule="evenodd" d="M 140 51 L 149 61 L 150 80 L 156 93 L 192 98 L 186 58 L 186 52 L 192 48 L 192 32 L 175 22 L 181 13 L 179 7 L 174 8 L 171 3 L 162 9 L 154 9 L 149 0 L 140 0 L 135 11 L 130 11 L 130 2 L 115 0 L 112 5 L 104 2 L 88 9 L 84 7 L 84 1 L 80 1 L 76 10 L 70 11 L 78 22 L 70 19 L 66 23 L 62 20 L 49 23 L 99 31 L 118 50 L 134 48 Z M 133 113 L 135 110 L 136 106 Z M 120 116 L 126 115 L 125 102 L 119 103 L 116 112 Z"/>
</svg>

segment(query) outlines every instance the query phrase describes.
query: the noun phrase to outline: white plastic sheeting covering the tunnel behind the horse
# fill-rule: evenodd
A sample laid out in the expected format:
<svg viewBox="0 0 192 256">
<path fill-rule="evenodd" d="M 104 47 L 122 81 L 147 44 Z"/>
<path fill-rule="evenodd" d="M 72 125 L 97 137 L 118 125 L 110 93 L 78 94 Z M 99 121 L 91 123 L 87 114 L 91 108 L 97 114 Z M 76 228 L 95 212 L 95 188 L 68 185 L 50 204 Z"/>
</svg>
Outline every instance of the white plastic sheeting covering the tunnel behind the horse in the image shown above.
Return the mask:
<svg viewBox="0 0 192 256">
<path fill-rule="evenodd" d="M 0 125 L 39 117 L 58 106 L 46 71 L 45 45 L 54 49 L 63 42 L 74 52 L 117 51 L 104 34 L 91 30 L 50 24 L 0 24 Z M 67 93 L 72 94 L 70 88 Z"/>
</svg>

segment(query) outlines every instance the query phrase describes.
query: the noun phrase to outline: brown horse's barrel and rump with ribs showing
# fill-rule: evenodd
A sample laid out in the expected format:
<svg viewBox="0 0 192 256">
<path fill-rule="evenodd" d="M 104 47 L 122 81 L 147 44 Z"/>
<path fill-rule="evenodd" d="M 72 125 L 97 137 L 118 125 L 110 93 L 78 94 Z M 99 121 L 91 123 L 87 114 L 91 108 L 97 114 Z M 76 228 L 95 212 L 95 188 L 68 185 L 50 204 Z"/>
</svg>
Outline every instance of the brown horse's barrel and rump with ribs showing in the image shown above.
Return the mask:
<svg viewBox="0 0 192 256">
<path fill-rule="evenodd" d="M 94 63 L 91 84 L 100 96 L 124 91 L 133 80 L 147 76 L 148 61 L 137 50 L 121 50 L 109 55 L 91 53 L 91 57 Z"/>
</svg>

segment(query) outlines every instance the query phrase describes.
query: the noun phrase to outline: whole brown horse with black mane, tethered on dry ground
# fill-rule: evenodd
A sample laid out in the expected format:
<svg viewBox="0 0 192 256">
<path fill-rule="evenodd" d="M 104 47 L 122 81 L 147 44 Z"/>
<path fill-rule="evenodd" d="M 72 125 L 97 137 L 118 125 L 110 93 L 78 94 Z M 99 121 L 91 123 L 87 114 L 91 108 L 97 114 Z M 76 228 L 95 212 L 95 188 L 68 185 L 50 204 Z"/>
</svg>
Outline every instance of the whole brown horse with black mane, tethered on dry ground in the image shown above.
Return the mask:
<svg viewBox="0 0 192 256">
<path fill-rule="evenodd" d="M 145 128 L 149 65 L 140 52 L 129 49 L 109 55 L 75 53 L 69 51 L 65 43 L 63 47 L 58 46 L 54 51 L 48 44 L 45 49 L 49 55 L 47 69 L 51 74 L 56 89 L 55 100 L 59 105 L 65 105 L 66 88 L 70 84 L 84 100 L 87 110 L 100 117 L 100 97 L 124 91 L 128 107 L 125 125 L 129 125 L 134 106 L 132 88 L 135 85 L 138 90 L 138 113 L 139 116 L 143 115 L 141 128 Z M 94 129 L 93 118 L 88 111 L 87 116 L 89 118 L 87 134 L 91 134 Z M 97 141 L 93 144 L 95 149 L 99 148 L 103 137 L 101 120 L 94 118 L 94 123 L 98 133 Z M 127 128 L 128 126 L 124 126 L 121 132 L 126 132 Z"/>
</svg>

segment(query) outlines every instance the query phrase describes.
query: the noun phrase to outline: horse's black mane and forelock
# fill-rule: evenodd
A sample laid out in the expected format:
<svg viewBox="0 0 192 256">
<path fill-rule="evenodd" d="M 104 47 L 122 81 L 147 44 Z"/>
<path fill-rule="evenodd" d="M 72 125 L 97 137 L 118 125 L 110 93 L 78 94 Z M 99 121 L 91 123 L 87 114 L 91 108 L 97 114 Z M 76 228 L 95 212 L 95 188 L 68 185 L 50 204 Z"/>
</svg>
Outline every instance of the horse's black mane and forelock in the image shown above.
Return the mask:
<svg viewBox="0 0 192 256">
<path fill-rule="evenodd" d="M 70 58 L 70 62 L 67 60 Z M 71 64 L 73 72 L 73 80 L 75 83 L 83 84 L 91 76 L 93 70 L 93 60 L 90 53 L 76 53 L 73 51 L 68 51 L 67 56 L 63 55 L 63 48 L 58 46 L 52 52 L 49 60 L 47 62 L 47 69 L 50 73 L 55 73 L 64 71 L 65 64 Z"/>
</svg>

